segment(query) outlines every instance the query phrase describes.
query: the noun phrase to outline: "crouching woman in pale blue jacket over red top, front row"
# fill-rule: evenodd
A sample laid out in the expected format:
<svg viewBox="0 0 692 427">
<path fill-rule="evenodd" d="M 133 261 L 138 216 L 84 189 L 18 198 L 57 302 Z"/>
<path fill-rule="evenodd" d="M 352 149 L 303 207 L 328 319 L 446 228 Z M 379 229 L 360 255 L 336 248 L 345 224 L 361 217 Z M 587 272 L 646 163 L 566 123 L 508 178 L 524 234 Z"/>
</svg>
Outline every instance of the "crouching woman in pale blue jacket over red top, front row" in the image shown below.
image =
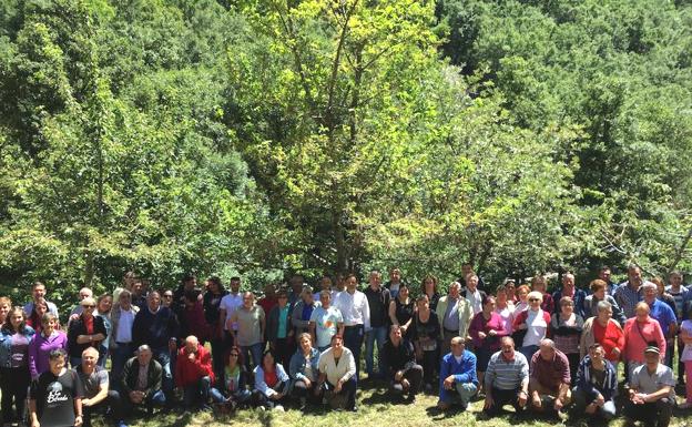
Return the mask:
<svg viewBox="0 0 692 427">
<path fill-rule="evenodd" d="M 255 367 L 255 405 L 265 409 L 284 410 L 282 401 L 288 395 L 291 380 L 284 366 L 276 363 L 274 350 L 266 350 L 262 364 Z"/>
</svg>

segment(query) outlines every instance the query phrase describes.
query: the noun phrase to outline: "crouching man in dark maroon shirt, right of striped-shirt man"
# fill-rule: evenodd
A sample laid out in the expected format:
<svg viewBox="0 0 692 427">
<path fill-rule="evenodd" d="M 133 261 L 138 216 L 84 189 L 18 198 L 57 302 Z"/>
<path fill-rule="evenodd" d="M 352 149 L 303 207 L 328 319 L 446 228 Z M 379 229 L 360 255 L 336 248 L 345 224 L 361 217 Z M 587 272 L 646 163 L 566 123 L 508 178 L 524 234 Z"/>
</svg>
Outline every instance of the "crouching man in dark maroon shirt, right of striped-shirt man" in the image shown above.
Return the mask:
<svg viewBox="0 0 692 427">
<path fill-rule="evenodd" d="M 539 350 L 531 357 L 529 390 L 533 410 L 554 415 L 571 401 L 569 360 L 556 348 L 552 339 L 541 339 Z"/>
</svg>

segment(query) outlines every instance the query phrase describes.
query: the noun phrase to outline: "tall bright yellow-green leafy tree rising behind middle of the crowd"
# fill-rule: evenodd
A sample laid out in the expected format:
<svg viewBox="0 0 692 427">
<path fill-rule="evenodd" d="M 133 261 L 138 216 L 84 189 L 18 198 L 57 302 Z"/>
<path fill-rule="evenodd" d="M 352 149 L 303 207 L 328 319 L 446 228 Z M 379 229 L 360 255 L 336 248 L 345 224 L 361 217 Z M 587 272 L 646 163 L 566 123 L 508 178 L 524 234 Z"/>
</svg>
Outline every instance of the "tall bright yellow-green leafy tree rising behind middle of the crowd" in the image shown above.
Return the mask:
<svg viewBox="0 0 692 427">
<path fill-rule="evenodd" d="M 237 144 L 294 233 L 288 265 L 344 271 L 363 223 L 411 184 L 436 67 L 432 3 L 247 2 L 252 40 L 231 58 Z"/>
</svg>

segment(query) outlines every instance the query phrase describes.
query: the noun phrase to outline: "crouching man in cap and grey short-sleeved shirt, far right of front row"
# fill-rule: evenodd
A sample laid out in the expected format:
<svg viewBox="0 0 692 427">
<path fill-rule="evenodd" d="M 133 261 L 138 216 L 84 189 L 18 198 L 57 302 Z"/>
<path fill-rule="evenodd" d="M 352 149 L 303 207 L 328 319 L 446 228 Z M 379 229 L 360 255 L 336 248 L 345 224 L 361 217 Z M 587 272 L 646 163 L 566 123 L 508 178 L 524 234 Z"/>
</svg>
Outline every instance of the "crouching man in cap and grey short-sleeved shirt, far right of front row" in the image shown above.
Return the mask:
<svg viewBox="0 0 692 427">
<path fill-rule="evenodd" d="M 625 425 L 643 421 L 647 427 L 668 427 L 675 404 L 673 372 L 661 363 L 661 350 L 657 346 L 644 349 L 644 359 L 645 364 L 630 375 Z"/>
</svg>

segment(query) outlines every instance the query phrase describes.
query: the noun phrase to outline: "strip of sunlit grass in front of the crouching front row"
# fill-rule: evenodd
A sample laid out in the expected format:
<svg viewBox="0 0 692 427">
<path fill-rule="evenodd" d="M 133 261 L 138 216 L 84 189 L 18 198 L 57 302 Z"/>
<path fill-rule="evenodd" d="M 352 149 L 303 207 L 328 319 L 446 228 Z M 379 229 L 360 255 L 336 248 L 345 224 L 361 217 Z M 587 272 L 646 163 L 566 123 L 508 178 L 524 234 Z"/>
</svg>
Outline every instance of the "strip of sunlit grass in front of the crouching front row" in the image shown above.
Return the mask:
<svg viewBox="0 0 692 427">
<path fill-rule="evenodd" d="M 285 413 L 271 410 L 262 411 L 257 409 L 241 409 L 228 416 L 216 416 L 213 413 L 157 413 L 150 419 L 131 419 L 129 426 L 154 427 L 154 426 L 301 426 L 301 427 L 425 427 L 425 426 L 481 426 L 481 427 L 505 427 L 505 426 L 536 426 L 547 427 L 554 425 L 562 426 L 592 426 L 587 424 L 586 418 L 579 416 L 562 416 L 562 421 L 551 418 L 527 417 L 517 419 L 509 414 L 487 418 L 482 409 L 482 400 L 474 401 L 466 413 L 446 411 L 436 409 L 436 396 L 420 395 L 413 405 L 393 403 L 393 397 L 387 393 L 384 383 L 376 385 L 360 384 L 365 389 L 358 392 L 358 413 L 329 411 L 320 407 L 308 407 L 306 411 L 301 411 L 296 407 L 288 406 Z M 683 392 L 680 390 L 679 392 Z M 679 393 L 680 396 L 680 393 Z M 680 401 L 680 397 L 678 398 Z M 297 405 L 295 405 L 297 406 Z M 689 425 L 692 420 L 692 411 L 675 410 L 672 427 Z M 610 423 L 610 426 L 622 426 L 622 418 Z"/>
</svg>

